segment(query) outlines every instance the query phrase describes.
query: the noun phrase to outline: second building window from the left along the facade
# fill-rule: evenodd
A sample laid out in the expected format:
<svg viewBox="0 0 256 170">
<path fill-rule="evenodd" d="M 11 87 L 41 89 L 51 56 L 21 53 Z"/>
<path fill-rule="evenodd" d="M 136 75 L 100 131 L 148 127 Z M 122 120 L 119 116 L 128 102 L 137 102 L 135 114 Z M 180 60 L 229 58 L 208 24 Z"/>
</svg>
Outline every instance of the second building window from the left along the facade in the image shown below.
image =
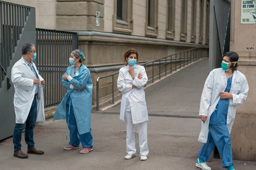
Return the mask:
<svg viewBox="0 0 256 170">
<path fill-rule="evenodd" d="M 158 0 L 147 0 L 146 31 L 145 35 L 150 37 L 158 36 Z"/>
</svg>

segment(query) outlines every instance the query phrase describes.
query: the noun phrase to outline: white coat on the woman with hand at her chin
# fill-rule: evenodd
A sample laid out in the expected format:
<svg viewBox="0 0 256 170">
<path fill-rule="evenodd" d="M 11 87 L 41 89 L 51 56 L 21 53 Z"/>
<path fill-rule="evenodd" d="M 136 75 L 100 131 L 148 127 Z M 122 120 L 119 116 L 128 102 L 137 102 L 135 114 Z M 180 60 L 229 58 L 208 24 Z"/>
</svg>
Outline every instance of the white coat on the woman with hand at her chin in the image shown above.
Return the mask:
<svg viewBox="0 0 256 170">
<path fill-rule="evenodd" d="M 124 121 L 124 112 L 129 106 L 126 101 L 129 99 L 131 107 L 132 122 L 133 124 L 148 121 L 147 106 L 145 100 L 145 92 L 143 86 L 147 83 L 147 74 L 143 66 L 134 65 L 135 78 L 129 74 L 129 65 L 122 67 L 119 70 L 117 88 L 122 92 L 120 119 Z M 139 80 L 138 76 L 142 74 L 142 79 Z M 136 87 L 132 89 L 132 85 Z"/>
</svg>

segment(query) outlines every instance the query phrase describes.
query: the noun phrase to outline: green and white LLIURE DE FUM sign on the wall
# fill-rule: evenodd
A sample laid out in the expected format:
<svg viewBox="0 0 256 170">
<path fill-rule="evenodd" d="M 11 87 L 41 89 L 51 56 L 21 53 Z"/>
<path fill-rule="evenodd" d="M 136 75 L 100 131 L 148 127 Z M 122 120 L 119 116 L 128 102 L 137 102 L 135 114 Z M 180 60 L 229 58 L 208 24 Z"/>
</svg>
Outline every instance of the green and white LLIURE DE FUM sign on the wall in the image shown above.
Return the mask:
<svg viewBox="0 0 256 170">
<path fill-rule="evenodd" d="M 256 23 L 256 4 L 255 0 L 242 0 L 241 23 Z"/>
</svg>

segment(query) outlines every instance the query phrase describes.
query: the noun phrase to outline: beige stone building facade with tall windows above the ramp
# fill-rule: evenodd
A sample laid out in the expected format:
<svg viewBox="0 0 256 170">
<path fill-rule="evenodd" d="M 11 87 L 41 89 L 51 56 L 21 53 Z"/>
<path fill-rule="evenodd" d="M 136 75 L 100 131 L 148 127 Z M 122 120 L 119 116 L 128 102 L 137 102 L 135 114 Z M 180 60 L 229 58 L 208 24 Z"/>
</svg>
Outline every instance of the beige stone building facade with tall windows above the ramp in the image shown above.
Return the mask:
<svg viewBox="0 0 256 170">
<path fill-rule="evenodd" d="M 6 1 L 35 7 L 37 28 L 79 33 L 93 104 L 97 77 L 118 71 L 128 48 L 138 51 L 139 62 L 194 47 L 204 47 L 208 56 L 209 0 Z"/>
</svg>

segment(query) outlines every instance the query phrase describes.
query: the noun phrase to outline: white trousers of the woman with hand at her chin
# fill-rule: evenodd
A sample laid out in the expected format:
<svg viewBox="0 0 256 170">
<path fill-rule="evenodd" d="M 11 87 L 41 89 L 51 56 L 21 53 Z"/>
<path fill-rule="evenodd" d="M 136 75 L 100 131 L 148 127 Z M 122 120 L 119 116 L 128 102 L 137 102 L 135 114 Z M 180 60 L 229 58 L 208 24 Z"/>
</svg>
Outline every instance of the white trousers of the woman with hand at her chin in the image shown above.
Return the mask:
<svg viewBox="0 0 256 170">
<path fill-rule="evenodd" d="M 134 134 L 134 124 L 132 123 L 132 113 L 130 111 L 125 111 L 124 121 L 126 124 L 126 152 L 127 154 L 136 154 L 135 147 L 135 134 Z M 139 156 L 148 155 L 149 148 L 147 147 L 147 121 L 142 123 L 137 123 L 138 133 L 139 133 Z"/>
</svg>

